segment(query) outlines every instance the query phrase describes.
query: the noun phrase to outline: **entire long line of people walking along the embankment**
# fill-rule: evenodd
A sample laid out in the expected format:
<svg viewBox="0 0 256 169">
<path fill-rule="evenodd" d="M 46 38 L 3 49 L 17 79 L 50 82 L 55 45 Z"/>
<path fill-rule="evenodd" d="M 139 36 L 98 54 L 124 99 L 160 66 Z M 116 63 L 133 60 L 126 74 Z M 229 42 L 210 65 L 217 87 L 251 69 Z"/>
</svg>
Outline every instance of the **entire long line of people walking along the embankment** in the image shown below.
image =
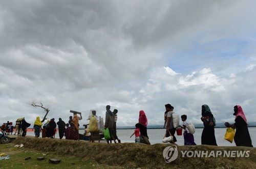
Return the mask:
<svg viewBox="0 0 256 169">
<path fill-rule="evenodd" d="M 117 136 L 116 132 L 116 122 L 117 122 L 117 109 L 114 109 L 113 112 L 110 110 L 111 106 L 106 106 L 106 114 L 105 114 L 105 123 L 104 128 L 109 129 L 110 138 L 106 139 L 106 142 L 112 143 L 120 143 L 120 139 Z M 175 133 L 177 131 L 177 128 L 180 127 L 184 130 L 183 136 L 184 136 L 184 145 L 196 145 L 194 135 L 190 132 L 189 123 L 187 122 L 187 116 L 182 115 L 182 125 L 179 125 L 179 115 L 174 112 L 174 106 L 171 104 L 165 104 L 165 113 L 164 113 L 164 128 L 166 129 L 165 137 L 172 137 L 172 140 L 170 140 L 170 143 L 175 144 L 177 142 L 177 138 L 175 136 Z M 235 116 L 235 123 L 229 124 L 225 123 L 226 127 L 230 127 L 233 129 L 236 129 L 236 133 L 234 134 L 234 142 L 237 146 L 246 146 L 246 147 L 253 147 L 251 143 L 250 134 L 248 131 L 248 124 L 247 120 L 244 114 L 244 111 L 240 105 L 234 106 L 234 113 L 233 116 Z M 212 145 L 217 146 L 216 137 L 215 137 L 215 126 L 216 126 L 216 120 L 214 115 L 212 114 L 210 108 L 208 105 L 204 104 L 202 105 L 202 112 L 201 112 L 201 121 L 203 122 L 204 128 L 201 135 L 201 144 L 202 145 Z M 96 120 L 95 120 L 95 119 Z M 55 123 L 54 119 L 51 119 L 48 121 L 45 125 L 42 124 L 42 121 L 40 121 L 40 118 L 37 117 L 34 122 L 34 133 L 35 137 L 40 136 L 40 132 L 42 132 L 42 137 L 50 137 L 54 138 L 56 133 L 56 127 L 58 126 L 58 132 L 59 132 L 59 138 L 62 139 L 63 136 L 66 137 L 66 139 L 74 139 L 79 140 L 79 120 L 82 120 L 82 116 L 80 114 L 80 117 L 77 116 L 76 113 L 74 113 L 74 116 L 70 116 L 69 123 L 65 123 L 62 121 L 61 118 L 59 118 L 59 121 Z M 99 117 L 96 116 L 96 111 L 92 111 L 92 116 L 88 119 L 90 120 L 89 123 L 89 129 L 87 131 L 91 130 L 92 134 L 98 133 L 100 129 L 100 122 Z M 94 123 L 93 121 L 96 121 Z M 7 123 L 9 124 L 9 122 Z M 95 124 L 95 126 L 93 126 Z M 10 124 L 9 124 L 10 125 Z M 26 136 L 27 128 L 31 124 L 27 123 L 25 118 L 21 118 L 17 120 L 16 122 L 16 132 L 20 134 L 19 132 L 22 131 L 22 136 Z M 8 125 L 7 125 L 8 126 Z M 2 130 L 5 130 L 6 126 L 2 126 Z M 147 117 L 144 112 L 144 110 L 139 111 L 139 121 L 135 125 L 135 131 L 130 136 L 132 137 L 135 135 L 135 143 L 144 143 L 150 145 L 150 140 L 147 135 Z"/>
</svg>

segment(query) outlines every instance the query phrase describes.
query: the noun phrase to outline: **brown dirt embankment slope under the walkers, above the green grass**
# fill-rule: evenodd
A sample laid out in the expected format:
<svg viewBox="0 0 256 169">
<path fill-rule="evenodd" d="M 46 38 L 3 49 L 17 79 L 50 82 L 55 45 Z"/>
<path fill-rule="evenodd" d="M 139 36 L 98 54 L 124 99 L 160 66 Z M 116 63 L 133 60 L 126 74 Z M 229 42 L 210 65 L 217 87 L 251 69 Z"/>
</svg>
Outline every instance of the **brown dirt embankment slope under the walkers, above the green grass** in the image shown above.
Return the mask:
<svg viewBox="0 0 256 169">
<path fill-rule="evenodd" d="M 105 144 L 75 140 L 18 137 L 13 143 L 24 144 L 26 149 L 57 155 L 72 155 L 94 160 L 100 164 L 124 166 L 126 168 L 256 168 L 256 148 L 178 146 L 179 155 L 175 161 L 166 163 L 163 150 L 171 144 L 144 145 L 135 143 Z M 181 151 L 250 151 L 248 158 L 182 157 Z"/>
</svg>

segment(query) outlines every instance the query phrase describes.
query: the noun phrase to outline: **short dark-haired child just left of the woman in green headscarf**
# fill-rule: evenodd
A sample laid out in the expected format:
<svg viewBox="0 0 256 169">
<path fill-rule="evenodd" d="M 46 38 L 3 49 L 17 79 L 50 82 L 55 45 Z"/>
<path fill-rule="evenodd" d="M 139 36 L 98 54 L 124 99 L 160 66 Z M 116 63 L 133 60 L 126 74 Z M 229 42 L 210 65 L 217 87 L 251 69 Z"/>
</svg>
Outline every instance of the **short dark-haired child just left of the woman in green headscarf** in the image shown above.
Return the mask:
<svg viewBox="0 0 256 169">
<path fill-rule="evenodd" d="M 186 122 L 187 120 L 187 116 L 186 115 L 182 115 L 181 116 L 181 120 L 183 122 L 183 126 L 180 126 L 184 129 L 184 145 L 196 145 L 195 141 L 194 141 L 194 135 L 191 134 L 187 128 L 188 123 Z"/>
</svg>

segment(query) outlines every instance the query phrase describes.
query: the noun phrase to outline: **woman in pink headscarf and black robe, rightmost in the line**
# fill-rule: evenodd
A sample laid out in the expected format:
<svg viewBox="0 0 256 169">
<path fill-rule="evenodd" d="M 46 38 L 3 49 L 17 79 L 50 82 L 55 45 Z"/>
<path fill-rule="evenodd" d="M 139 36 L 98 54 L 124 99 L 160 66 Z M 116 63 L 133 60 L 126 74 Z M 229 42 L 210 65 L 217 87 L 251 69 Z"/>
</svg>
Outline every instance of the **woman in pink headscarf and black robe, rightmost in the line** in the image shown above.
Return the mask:
<svg viewBox="0 0 256 169">
<path fill-rule="evenodd" d="M 236 128 L 236 134 L 234 134 L 234 143 L 237 146 L 253 147 L 251 144 L 251 137 L 247 127 L 247 120 L 244 111 L 240 105 L 234 106 L 234 124 L 230 125 L 225 123 L 226 127 Z"/>
</svg>

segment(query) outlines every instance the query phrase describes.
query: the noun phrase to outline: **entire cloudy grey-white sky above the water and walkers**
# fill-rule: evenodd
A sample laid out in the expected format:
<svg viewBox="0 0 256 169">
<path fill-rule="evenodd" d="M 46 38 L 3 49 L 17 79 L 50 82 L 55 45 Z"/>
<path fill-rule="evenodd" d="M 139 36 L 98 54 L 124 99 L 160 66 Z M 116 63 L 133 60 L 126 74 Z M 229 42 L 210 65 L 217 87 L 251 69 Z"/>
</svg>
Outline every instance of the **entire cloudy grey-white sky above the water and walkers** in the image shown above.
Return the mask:
<svg viewBox="0 0 256 169">
<path fill-rule="evenodd" d="M 0 123 L 25 117 L 68 121 L 69 110 L 133 126 L 163 124 L 170 103 L 201 123 L 240 104 L 256 121 L 255 1 L 1 1 Z M 81 123 L 85 123 L 83 120 Z"/>
</svg>

